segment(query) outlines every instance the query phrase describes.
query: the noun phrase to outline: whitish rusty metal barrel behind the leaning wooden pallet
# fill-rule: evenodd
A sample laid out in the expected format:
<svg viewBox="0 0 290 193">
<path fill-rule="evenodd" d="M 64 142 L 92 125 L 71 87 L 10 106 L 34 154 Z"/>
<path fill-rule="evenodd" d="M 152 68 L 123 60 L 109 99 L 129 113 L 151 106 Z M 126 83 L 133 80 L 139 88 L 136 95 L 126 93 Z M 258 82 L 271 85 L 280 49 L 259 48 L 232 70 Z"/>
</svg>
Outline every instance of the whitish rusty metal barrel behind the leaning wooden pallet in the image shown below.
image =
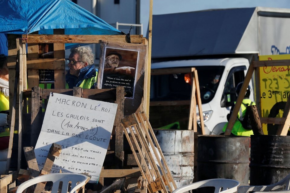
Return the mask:
<svg viewBox="0 0 290 193">
<path fill-rule="evenodd" d="M 193 182 L 194 178 L 194 131 L 154 129 L 177 187 Z"/>
</svg>

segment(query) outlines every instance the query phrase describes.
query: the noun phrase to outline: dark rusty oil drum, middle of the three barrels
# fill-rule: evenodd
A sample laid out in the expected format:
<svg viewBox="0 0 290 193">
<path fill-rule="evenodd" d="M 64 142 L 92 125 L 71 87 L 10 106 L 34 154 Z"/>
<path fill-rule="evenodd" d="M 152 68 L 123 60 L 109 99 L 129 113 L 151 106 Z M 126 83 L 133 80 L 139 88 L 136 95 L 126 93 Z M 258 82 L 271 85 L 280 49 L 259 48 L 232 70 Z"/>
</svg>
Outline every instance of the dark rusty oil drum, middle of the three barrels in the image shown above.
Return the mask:
<svg viewBox="0 0 290 193">
<path fill-rule="evenodd" d="M 249 185 L 250 137 L 198 135 L 197 180 L 234 179 Z"/>
</svg>

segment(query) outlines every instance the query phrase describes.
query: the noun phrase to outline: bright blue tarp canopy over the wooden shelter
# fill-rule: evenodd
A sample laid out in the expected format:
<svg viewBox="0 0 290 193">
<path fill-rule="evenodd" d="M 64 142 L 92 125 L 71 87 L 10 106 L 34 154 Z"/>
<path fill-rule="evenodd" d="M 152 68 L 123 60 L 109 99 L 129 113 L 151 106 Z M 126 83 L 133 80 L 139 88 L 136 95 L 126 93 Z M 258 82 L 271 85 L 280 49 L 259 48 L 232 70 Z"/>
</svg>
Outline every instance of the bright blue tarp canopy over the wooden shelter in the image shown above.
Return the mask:
<svg viewBox="0 0 290 193">
<path fill-rule="evenodd" d="M 52 29 L 65 29 L 67 35 L 121 34 L 116 28 L 69 0 L 0 1 L 0 33 L 29 34 L 39 31 L 51 34 Z M 2 49 L 3 42 L 0 41 Z"/>
</svg>

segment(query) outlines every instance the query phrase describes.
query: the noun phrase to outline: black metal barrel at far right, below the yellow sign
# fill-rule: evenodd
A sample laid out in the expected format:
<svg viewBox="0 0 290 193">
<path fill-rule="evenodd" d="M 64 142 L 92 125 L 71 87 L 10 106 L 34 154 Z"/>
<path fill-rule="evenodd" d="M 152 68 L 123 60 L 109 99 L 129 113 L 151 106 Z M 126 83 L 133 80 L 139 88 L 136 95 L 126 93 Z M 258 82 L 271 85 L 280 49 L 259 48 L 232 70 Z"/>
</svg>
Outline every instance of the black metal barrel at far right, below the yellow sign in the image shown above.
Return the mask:
<svg viewBox="0 0 290 193">
<path fill-rule="evenodd" d="M 290 136 L 251 135 L 250 185 L 279 182 L 290 173 Z"/>
</svg>

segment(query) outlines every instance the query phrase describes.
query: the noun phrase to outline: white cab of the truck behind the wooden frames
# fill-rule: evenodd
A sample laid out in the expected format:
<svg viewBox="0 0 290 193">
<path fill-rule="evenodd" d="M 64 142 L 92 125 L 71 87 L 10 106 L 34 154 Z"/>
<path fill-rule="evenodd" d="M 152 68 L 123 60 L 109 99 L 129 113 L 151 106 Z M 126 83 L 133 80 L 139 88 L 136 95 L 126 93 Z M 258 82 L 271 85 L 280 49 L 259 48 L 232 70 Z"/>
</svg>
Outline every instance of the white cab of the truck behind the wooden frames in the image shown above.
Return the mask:
<svg viewBox="0 0 290 193">
<path fill-rule="evenodd" d="M 236 100 L 235 87 L 244 80 L 247 73 L 249 67 L 248 59 L 177 60 L 156 62 L 151 65 L 151 69 L 183 67 L 194 67 L 198 72 L 205 134 L 221 134 L 227 122 L 227 114 L 230 112 L 230 107 Z M 213 79 L 215 79 L 217 84 L 213 85 Z M 253 100 L 252 81 L 250 82 L 250 87 L 252 88 L 250 99 Z M 189 111 L 187 110 L 189 109 L 189 101 L 187 108 L 181 108 L 181 105 L 179 105 L 175 106 L 173 110 L 166 107 L 163 111 L 159 110 L 164 108 L 164 106 L 151 105 L 151 103 L 156 103 L 156 101 L 189 100 L 190 89 L 191 86 L 185 82 L 184 74 L 151 75 L 149 118 L 153 128 L 162 128 L 161 124 L 165 126 L 172 125 L 171 123 L 178 125 L 179 122 L 186 122 L 186 120 L 188 122 Z M 174 103 L 171 104 L 174 105 Z M 179 109 L 180 111 L 178 111 Z M 163 120 L 163 123 L 160 123 L 160 120 Z M 154 125 L 155 123 L 156 126 Z"/>
</svg>

